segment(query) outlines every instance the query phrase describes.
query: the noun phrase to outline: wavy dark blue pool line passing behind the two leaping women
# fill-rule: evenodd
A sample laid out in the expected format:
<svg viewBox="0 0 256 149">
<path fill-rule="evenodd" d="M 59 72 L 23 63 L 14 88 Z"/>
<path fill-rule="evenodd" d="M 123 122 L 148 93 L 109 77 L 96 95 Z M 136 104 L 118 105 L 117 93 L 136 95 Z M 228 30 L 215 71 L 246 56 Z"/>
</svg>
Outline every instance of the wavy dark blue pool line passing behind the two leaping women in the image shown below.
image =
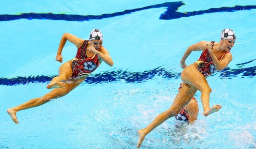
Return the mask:
<svg viewBox="0 0 256 149">
<path fill-rule="evenodd" d="M 101 83 L 111 83 L 116 81 L 125 81 L 126 83 L 143 83 L 145 81 L 154 79 L 157 76 L 161 76 L 167 79 L 178 79 L 180 78 L 180 73 L 174 73 L 166 70 L 165 68 L 161 68 L 162 66 L 146 70 L 143 72 L 132 72 L 128 70 L 112 70 L 106 71 L 98 74 L 91 74 L 85 80 L 88 84 L 101 84 Z M 229 69 L 226 68 L 221 72 L 217 72 L 215 75 L 220 76 L 220 79 L 232 79 L 233 77 L 240 78 L 254 78 L 256 75 L 256 66 L 249 68 L 238 68 L 238 69 Z M 28 77 L 15 77 L 15 78 L 0 78 L 0 85 L 13 86 L 13 85 L 26 85 L 29 83 L 49 83 L 53 77 L 51 76 L 28 76 Z"/>
</svg>

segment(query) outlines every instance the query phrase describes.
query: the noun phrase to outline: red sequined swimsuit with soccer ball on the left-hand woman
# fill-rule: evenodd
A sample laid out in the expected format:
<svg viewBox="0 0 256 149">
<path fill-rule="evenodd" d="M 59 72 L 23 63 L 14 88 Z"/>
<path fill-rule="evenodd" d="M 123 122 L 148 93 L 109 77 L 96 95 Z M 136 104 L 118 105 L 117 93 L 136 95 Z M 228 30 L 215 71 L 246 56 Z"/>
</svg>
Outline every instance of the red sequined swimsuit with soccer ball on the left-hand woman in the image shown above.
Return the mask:
<svg viewBox="0 0 256 149">
<path fill-rule="evenodd" d="M 94 54 L 92 57 L 86 56 L 86 48 L 88 40 L 85 40 L 83 45 L 77 49 L 75 58 L 72 60 L 72 76 L 71 78 L 79 78 L 91 74 L 100 65 L 99 57 Z"/>
</svg>

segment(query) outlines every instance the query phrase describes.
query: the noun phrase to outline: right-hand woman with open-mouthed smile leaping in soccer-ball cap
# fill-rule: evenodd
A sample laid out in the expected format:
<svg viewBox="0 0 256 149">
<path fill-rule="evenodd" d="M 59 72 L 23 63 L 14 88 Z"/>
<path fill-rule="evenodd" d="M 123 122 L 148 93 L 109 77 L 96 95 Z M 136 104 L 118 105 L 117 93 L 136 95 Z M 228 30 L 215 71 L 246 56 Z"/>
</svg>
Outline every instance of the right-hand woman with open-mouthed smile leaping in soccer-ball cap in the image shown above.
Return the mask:
<svg viewBox="0 0 256 149">
<path fill-rule="evenodd" d="M 183 85 L 181 91 L 177 94 L 171 107 L 158 115 L 153 122 L 146 128 L 138 131 L 139 141 L 137 148 L 142 145 L 145 136 L 151 132 L 158 125 L 178 114 L 181 109 L 191 100 L 197 90 L 201 94 L 201 102 L 203 105 L 203 115 L 208 116 L 221 109 L 221 105 L 214 105 L 210 107 L 209 99 L 212 89 L 209 87 L 205 77 L 214 73 L 216 70 L 221 71 L 227 67 L 232 60 L 231 48 L 234 46 L 236 36 L 231 29 L 224 29 L 221 33 L 221 40 L 219 43 L 201 41 L 191 45 L 186 50 L 181 59 L 181 67 L 184 69 L 181 73 L 181 80 Z M 185 60 L 192 51 L 202 51 L 199 60 L 189 66 L 185 64 Z"/>
</svg>

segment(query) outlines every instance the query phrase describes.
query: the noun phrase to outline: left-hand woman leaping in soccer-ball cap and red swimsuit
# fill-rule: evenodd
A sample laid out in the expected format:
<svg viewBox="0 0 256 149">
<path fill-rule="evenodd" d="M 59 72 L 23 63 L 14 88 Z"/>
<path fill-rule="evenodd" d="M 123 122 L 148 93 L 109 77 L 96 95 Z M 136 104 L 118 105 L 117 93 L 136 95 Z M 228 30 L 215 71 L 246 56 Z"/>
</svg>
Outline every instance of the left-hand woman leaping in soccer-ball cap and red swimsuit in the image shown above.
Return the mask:
<svg viewBox="0 0 256 149">
<path fill-rule="evenodd" d="M 108 50 L 102 46 L 103 36 L 100 30 L 93 29 L 90 32 L 89 40 L 83 40 L 70 33 L 64 33 L 56 56 L 56 61 L 60 63 L 62 62 L 61 52 L 67 40 L 77 47 L 75 58 L 62 64 L 59 68 L 59 75 L 54 77 L 51 83 L 46 86 L 48 89 L 54 88 L 52 91 L 40 98 L 31 99 L 7 110 L 16 124 L 18 124 L 17 111 L 37 107 L 68 94 L 81 84 L 90 73 L 95 71 L 102 61 L 110 66 L 114 64 Z"/>
</svg>

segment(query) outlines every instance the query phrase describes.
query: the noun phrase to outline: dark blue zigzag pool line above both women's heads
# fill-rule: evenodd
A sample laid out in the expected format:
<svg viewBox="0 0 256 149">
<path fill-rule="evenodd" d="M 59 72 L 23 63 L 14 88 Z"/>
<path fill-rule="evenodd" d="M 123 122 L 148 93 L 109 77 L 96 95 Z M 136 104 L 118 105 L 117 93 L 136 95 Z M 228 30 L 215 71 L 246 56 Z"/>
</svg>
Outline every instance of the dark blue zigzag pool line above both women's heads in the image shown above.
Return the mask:
<svg viewBox="0 0 256 149">
<path fill-rule="evenodd" d="M 74 14 L 53 14 L 53 13 L 22 13 L 19 15 L 0 15 L 0 21 L 10 21 L 17 19 L 47 19 L 47 20 L 66 20 L 66 21 L 89 21 L 94 19 L 104 19 L 111 18 L 115 16 L 121 16 L 125 14 L 130 14 L 132 12 L 152 9 L 152 8 L 162 8 L 167 7 L 167 11 L 160 15 L 159 19 L 171 20 L 182 17 L 196 16 L 215 12 L 235 12 L 239 10 L 251 10 L 256 9 L 256 5 L 246 5 L 246 6 L 234 6 L 234 7 L 221 7 L 221 8 L 211 8 L 208 10 L 193 11 L 193 12 L 177 12 L 180 6 L 185 5 L 185 3 L 179 2 L 166 2 L 162 4 L 155 4 L 151 6 L 146 6 L 143 8 L 125 10 L 122 12 L 115 12 L 111 14 L 102 15 L 74 15 Z"/>
</svg>

